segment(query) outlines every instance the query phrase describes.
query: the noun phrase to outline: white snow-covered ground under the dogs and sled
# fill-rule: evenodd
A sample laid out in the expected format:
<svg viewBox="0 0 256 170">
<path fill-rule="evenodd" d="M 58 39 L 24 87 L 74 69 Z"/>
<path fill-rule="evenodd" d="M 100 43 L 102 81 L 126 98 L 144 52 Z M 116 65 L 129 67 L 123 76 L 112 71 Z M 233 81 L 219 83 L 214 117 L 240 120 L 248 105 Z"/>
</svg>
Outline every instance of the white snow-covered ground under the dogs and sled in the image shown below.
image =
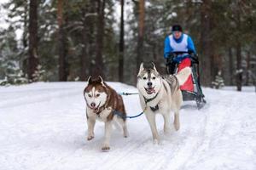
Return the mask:
<svg viewBox="0 0 256 170">
<path fill-rule="evenodd" d="M 109 82 L 118 92 L 137 92 Z M 207 106 L 181 110 L 181 129 L 152 143 L 144 116 L 128 120 L 130 137 L 114 130 L 111 150 L 101 151 L 104 126 L 86 140 L 83 82 L 34 83 L 0 88 L 0 169 L 256 169 L 256 94 L 204 88 Z M 129 115 L 141 111 L 138 96 L 125 96 Z"/>
</svg>

